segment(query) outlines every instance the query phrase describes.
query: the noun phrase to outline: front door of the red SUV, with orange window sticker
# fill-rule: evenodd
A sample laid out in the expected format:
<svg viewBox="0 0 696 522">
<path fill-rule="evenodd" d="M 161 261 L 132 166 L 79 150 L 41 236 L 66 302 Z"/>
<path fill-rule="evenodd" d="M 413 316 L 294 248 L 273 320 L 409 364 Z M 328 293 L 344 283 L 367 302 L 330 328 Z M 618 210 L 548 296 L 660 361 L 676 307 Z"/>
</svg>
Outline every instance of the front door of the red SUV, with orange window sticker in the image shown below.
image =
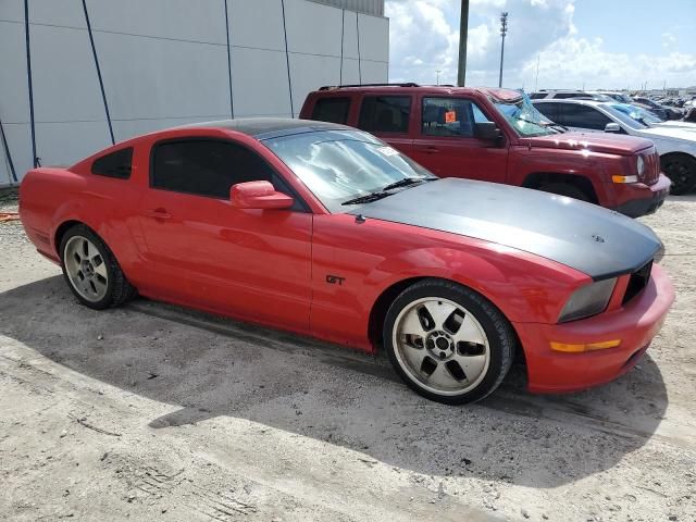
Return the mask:
<svg viewBox="0 0 696 522">
<path fill-rule="evenodd" d="M 439 177 L 506 183 L 507 144 L 474 136 L 476 123 L 494 122 L 474 100 L 421 96 L 419 101 L 420 128 L 411 158 Z"/>
</svg>

